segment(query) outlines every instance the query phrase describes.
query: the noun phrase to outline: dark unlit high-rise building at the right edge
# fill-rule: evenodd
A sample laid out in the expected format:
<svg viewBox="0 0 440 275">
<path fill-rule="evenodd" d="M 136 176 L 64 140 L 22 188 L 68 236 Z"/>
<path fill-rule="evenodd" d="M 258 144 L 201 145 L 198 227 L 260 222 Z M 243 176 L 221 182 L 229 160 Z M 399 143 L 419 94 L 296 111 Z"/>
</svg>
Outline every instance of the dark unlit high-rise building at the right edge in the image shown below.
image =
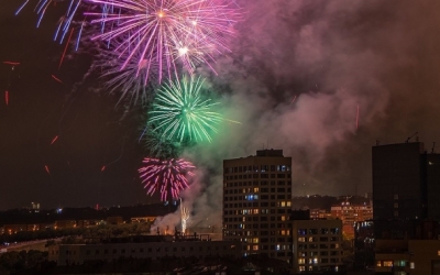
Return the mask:
<svg viewBox="0 0 440 275">
<path fill-rule="evenodd" d="M 440 219 L 440 154 L 421 142 L 376 145 L 372 153 L 374 220 Z"/>
</svg>

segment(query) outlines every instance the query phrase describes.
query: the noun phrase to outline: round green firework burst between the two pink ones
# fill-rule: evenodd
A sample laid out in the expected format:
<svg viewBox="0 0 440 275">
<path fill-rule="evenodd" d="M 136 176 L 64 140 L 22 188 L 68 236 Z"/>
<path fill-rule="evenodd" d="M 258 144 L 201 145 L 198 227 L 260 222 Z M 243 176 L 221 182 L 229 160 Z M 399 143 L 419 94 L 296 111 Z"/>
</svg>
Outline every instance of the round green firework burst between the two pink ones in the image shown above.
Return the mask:
<svg viewBox="0 0 440 275">
<path fill-rule="evenodd" d="M 178 142 L 211 141 L 210 132 L 217 132 L 222 117 L 211 108 L 218 102 L 204 99 L 200 90 L 204 80 L 184 77 L 164 84 L 153 102 L 147 124 L 162 136 Z"/>
</svg>

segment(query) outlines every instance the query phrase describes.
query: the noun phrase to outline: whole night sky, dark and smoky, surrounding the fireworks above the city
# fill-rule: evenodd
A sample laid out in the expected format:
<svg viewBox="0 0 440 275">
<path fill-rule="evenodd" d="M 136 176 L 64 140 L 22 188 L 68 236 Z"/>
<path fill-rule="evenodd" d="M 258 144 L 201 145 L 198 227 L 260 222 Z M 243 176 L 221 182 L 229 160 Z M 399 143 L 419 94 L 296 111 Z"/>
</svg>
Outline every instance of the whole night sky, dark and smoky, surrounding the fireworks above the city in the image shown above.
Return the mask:
<svg viewBox="0 0 440 275">
<path fill-rule="evenodd" d="M 9 106 L 0 101 L 0 209 L 31 201 L 43 208 L 157 201 L 138 179 L 146 154 L 138 142 L 139 110 L 123 116 L 117 96 L 96 89 L 95 76 L 84 78 L 90 53 L 70 47 L 58 69 L 57 10 L 35 29 L 32 7 L 14 15 L 20 4 L 9 1 L 0 10 L 0 61 L 21 63 L 13 70 L 0 64 L 0 87 L 10 97 Z M 243 19 L 232 52 L 218 57 L 217 76 L 198 70 L 224 116 L 242 122 L 220 125 L 212 144 L 184 153 L 200 168 L 184 194 L 200 220 L 219 213 L 223 158 L 283 148 L 294 162 L 294 196 L 363 195 L 371 191 L 376 140 L 400 143 L 418 132 L 428 151 L 440 142 L 438 1 L 239 4 Z"/>
</svg>

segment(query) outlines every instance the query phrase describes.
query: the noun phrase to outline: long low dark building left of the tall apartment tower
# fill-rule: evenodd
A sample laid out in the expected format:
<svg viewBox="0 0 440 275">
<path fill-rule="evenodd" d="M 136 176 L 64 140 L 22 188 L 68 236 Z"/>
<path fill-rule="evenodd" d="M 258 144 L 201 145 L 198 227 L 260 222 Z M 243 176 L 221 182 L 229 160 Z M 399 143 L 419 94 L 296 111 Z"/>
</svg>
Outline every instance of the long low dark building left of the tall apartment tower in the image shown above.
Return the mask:
<svg viewBox="0 0 440 275">
<path fill-rule="evenodd" d="M 206 257 L 241 256 L 241 245 L 234 241 L 211 241 L 201 235 L 174 239 L 172 235 L 134 237 L 99 244 L 57 244 L 48 246 L 48 261 L 57 265 L 84 264 L 86 261 L 111 262 L 120 257 Z"/>
</svg>

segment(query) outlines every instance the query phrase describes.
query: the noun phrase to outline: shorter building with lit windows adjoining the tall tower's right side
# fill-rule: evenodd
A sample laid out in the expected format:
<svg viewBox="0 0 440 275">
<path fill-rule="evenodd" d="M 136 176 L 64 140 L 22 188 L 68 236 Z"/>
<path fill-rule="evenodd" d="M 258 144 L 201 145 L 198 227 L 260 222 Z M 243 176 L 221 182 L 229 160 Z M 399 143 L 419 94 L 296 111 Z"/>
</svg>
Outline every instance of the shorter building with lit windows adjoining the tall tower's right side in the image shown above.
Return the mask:
<svg viewBox="0 0 440 275">
<path fill-rule="evenodd" d="M 341 220 L 293 220 L 294 273 L 340 272 Z"/>
</svg>

